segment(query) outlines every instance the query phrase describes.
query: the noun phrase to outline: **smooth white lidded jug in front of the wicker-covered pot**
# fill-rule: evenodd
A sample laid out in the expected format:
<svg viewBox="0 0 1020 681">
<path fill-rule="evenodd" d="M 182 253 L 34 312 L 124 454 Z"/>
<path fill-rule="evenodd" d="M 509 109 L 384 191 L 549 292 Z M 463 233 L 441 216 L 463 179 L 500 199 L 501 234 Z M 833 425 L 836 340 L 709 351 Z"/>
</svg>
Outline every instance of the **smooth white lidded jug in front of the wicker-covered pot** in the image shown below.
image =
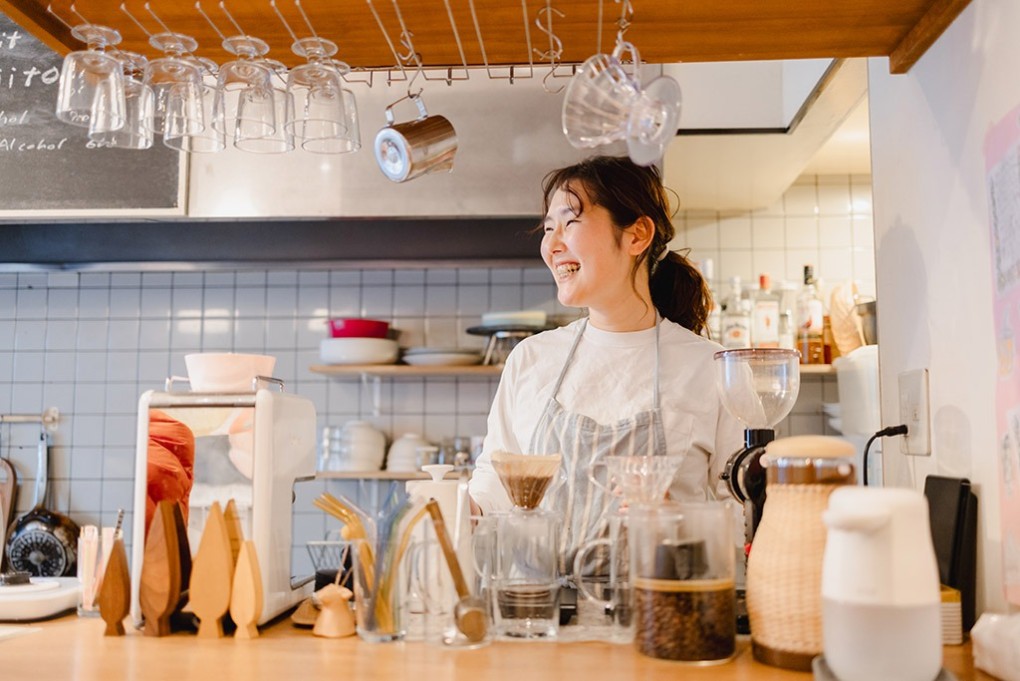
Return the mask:
<svg viewBox="0 0 1020 681">
<path fill-rule="evenodd" d="M 914 489 L 829 496 L 822 641 L 839 681 L 932 681 L 942 663 L 938 567 L 928 504 Z"/>
</svg>

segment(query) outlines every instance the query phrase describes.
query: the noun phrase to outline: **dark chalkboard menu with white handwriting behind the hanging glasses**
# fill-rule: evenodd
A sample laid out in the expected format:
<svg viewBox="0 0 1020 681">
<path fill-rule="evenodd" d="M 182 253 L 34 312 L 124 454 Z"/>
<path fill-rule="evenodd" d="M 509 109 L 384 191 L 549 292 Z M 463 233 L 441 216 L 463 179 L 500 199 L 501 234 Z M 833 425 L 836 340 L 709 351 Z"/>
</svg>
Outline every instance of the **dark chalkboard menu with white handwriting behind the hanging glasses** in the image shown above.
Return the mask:
<svg viewBox="0 0 1020 681">
<path fill-rule="evenodd" d="M 99 149 L 87 128 L 57 119 L 62 62 L 0 14 L 0 215 L 132 209 L 182 214 L 180 152 L 159 138 L 145 151 Z"/>
</svg>

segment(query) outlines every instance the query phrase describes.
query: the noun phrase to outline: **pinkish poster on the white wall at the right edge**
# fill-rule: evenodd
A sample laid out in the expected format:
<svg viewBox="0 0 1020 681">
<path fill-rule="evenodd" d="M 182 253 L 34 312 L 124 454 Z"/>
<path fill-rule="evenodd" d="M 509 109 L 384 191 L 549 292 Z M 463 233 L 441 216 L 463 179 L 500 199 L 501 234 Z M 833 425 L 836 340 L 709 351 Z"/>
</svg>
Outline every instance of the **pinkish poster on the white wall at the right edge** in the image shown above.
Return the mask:
<svg viewBox="0 0 1020 681">
<path fill-rule="evenodd" d="M 1020 106 L 984 140 L 998 376 L 996 434 L 1006 598 L 1020 605 Z"/>
</svg>

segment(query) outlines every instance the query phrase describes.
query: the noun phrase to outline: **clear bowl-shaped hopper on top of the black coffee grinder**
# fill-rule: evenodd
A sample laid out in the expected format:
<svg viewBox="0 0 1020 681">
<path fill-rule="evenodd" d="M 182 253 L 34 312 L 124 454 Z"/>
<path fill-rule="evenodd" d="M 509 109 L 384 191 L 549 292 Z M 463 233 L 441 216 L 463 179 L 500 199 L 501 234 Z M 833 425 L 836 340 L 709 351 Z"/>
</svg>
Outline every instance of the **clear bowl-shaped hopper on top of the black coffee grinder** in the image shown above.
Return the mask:
<svg viewBox="0 0 1020 681">
<path fill-rule="evenodd" d="M 800 353 L 746 348 L 715 354 L 722 404 L 748 429 L 767 429 L 789 414 L 801 390 Z"/>
</svg>

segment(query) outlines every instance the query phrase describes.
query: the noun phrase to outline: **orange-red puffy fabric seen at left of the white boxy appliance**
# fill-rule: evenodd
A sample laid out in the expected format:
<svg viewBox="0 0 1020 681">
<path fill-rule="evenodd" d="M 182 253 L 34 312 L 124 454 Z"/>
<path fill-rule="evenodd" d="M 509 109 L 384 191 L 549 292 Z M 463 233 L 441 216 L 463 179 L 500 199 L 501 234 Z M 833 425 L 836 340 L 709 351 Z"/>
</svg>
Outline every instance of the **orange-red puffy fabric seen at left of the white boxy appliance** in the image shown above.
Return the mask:
<svg viewBox="0 0 1020 681">
<path fill-rule="evenodd" d="M 165 413 L 149 410 L 149 454 L 146 471 L 145 533 L 164 500 L 177 502 L 188 523 L 188 499 L 195 481 L 195 434 Z"/>
</svg>

